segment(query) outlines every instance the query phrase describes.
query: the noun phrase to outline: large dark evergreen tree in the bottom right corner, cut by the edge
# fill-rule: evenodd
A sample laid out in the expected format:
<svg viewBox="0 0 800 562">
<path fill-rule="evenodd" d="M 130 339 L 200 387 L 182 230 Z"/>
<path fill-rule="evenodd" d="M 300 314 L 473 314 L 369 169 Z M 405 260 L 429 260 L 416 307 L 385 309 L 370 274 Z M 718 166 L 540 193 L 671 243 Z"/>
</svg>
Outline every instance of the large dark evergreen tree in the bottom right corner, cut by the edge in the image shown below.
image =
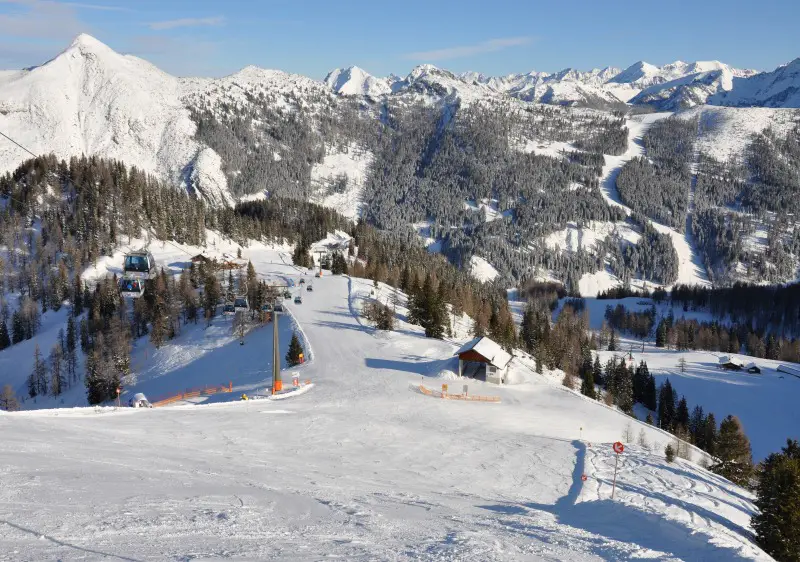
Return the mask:
<svg viewBox="0 0 800 562">
<path fill-rule="evenodd" d="M 800 561 L 800 445 L 788 439 L 762 463 L 752 518 L 756 542 L 779 562 Z"/>
</svg>

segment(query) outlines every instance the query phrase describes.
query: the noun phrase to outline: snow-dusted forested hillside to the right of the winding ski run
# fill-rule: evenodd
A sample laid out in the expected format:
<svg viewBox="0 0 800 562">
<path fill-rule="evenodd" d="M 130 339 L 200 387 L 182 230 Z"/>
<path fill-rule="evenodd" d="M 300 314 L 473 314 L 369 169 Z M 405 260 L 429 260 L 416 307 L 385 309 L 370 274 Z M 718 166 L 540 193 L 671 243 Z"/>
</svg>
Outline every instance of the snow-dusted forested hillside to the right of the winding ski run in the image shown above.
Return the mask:
<svg viewBox="0 0 800 562">
<path fill-rule="evenodd" d="M 718 284 L 794 280 L 800 256 L 800 124 L 753 135 L 743 161 L 699 163 L 693 230 Z"/>
</svg>

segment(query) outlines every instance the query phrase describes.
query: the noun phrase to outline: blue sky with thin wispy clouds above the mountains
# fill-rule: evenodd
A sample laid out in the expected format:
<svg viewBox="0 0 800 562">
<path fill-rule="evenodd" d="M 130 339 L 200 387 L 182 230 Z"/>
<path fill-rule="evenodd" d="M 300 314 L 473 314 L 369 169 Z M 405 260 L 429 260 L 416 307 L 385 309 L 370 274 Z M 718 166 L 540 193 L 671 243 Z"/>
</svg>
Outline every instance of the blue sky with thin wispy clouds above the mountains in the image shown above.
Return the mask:
<svg viewBox="0 0 800 562">
<path fill-rule="evenodd" d="M 423 62 L 498 75 L 677 59 L 772 70 L 800 57 L 797 22 L 790 0 L 0 0 L 0 68 L 40 64 L 86 32 L 182 76 L 248 64 L 403 75 Z"/>
</svg>

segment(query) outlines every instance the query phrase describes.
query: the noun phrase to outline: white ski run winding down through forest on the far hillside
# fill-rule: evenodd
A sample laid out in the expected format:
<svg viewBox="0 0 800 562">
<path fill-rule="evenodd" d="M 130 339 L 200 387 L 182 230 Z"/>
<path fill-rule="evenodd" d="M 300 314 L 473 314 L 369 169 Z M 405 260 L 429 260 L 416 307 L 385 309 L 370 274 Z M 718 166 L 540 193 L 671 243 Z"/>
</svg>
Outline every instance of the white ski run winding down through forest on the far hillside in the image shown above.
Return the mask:
<svg viewBox="0 0 800 562">
<path fill-rule="evenodd" d="M 669 117 L 670 113 L 651 113 L 647 115 L 635 116 L 627 121 L 628 125 L 628 150 L 621 156 L 605 155 L 606 165 L 603 167 L 603 176 L 600 179 L 601 192 L 603 198 L 609 205 L 621 208 L 626 214 L 632 213 L 631 208 L 622 202 L 622 197 L 617 189 L 617 177 L 626 162 L 636 156 L 644 156 L 644 144 L 642 137 L 650 126 L 659 119 Z M 694 180 L 693 180 L 694 181 Z M 692 187 L 689 187 L 690 191 Z M 691 195 L 690 195 L 691 197 Z M 690 202 L 693 201 L 691 197 Z M 676 284 L 709 286 L 708 275 L 702 265 L 697 251 L 694 248 L 691 230 L 681 234 L 674 229 L 658 223 L 652 219 L 648 222 L 662 234 L 669 234 L 672 245 L 678 253 L 679 268 Z M 687 217 L 687 226 L 689 217 Z"/>
</svg>

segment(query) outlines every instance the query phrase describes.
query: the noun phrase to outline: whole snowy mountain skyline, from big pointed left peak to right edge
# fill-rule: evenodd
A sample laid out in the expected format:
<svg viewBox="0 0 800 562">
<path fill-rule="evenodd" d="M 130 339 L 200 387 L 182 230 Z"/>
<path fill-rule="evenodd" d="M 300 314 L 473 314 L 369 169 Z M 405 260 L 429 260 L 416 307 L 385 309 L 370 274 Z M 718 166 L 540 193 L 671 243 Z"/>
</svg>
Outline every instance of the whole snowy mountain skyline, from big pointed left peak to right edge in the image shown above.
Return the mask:
<svg viewBox="0 0 800 562">
<path fill-rule="evenodd" d="M 250 66 L 220 79 L 178 78 L 83 34 L 40 66 L 0 71 L 0 130 L 37 154 L 119 159 L 224 205 L 235 199 L 230 170 L 224 172 L 224 158 L 198 140 L 198 111 L 265 100 L 278 114 L 297 111 L 311 118 L 320 111 L 336 113 L 359 98 L 374 108 L 389 99 L 623 110 L 626 104 L 658 110 L 702 104 L 800 107 L 800 59 L 761 74 L 712 61 L 502 77 L 420 65 L 405 77 L 377 78 L 350 67 L 332 71 L 324 82 Z M 276 160 L 281 150 L 276 146 Z M 0 143 L 0 173 L 29 156 Z"/>
</svg>

